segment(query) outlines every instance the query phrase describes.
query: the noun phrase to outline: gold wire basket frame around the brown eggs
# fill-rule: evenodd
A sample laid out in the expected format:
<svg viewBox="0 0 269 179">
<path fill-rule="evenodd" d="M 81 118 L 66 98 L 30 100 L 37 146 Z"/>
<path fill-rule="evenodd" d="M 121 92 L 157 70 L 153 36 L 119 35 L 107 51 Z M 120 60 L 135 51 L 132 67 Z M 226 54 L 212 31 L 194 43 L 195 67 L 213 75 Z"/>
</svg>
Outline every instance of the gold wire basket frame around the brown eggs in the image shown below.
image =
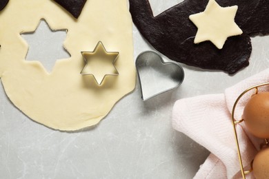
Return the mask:
<svg viewBox="0 0 269 179">
<path fill-rule="evenodd" d="M 237 136 L 237 129 L 236 129 L 236 126 L 239 125 L 239 123 L 243 123 L 243 119 L 241 120 L 236 120 L 235 119 L 235 109 L 237 107 L 237 104 L 239 103 L 240 99 L 243 97 L 244 94 L 250 92 L 252 89 L 255 89 L 255 94 L 258 94 L 259 93 L 259 87 L 263 87 L 263 86 L 266 86 L 266 85 L 269 85 L 269 83 L 263 83 L 263 84 L 260 84 L 260 85 L 255 85 L 253 87 L 250 87 L 248 89 L 246 89 L 244 92 L 242 92 L 239 97 L 237 98 L 237 100 L 235 101 L 235 104 L 234 106 L 232 107 L 232 125 L 233 125 L 233 129 L 235 131 L 235 140 L 236 140 L 236 144 L 237 144 L 237 154 L 238 154 L 238 158 L 239 158 L 239 164 L 240 164 L 240 169 L 241 169 L 241 175 L 243 177 L 243 179 L 246 179 L 246 175 L 250 172 L 252 172 L 253 168 L 252 168 L 252 163 L 253 163 L 253 160 L 252 162 L 250 163 L 250 169 L 248 170 L 244 170 L 243 168 L 243 162 L 242 162 L 242 156 L 241 156 L 241 151 L 240 151 L 240 146 L 239 146 L 239 140 L 238 140 L 238 136 Z M 254 94 L 253 94 L 254 95 Z M 264 139 L 265 140 L 265 143 L 264 144 L 261 144 L 261 148 L 264 147 L 264 146 L 268 146 L 269 143 L 268 143 L 268 139 Z"/>
</svg>

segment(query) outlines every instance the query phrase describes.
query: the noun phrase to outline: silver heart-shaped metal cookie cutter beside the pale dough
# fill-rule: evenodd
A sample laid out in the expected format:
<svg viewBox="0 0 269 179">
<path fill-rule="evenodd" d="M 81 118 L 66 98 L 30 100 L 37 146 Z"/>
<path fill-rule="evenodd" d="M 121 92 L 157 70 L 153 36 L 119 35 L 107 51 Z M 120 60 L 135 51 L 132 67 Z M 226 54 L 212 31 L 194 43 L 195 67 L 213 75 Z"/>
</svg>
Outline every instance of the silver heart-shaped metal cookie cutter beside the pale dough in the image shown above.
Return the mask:
<svg viewBox="0 0 269 179">
<path fill-rule="evenodd" d="M 135 62 L 143 101 L 181 85 L 183 68 L 175 62 L 164 62 L 153 51 L 142 52 Z"/>
</svg>

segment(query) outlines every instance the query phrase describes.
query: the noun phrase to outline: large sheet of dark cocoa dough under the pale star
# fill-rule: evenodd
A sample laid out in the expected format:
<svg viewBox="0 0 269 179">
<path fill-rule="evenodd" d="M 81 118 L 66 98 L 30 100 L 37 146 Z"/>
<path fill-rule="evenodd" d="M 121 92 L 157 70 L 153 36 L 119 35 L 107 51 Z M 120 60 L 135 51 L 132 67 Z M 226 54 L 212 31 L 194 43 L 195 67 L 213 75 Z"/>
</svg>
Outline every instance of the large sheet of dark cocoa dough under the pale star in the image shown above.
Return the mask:
<svg viewBox="0 0 269 179">
<path fill-rule="evenodd" d="M 208 70 L 235 74 L 248 66 L 250 36 L 269 34 L 268 0 L 217 0 L 222 7 L 238 6 L 235 22 L 243 30 L 219 50 L 210 41 L 194 43 L 197 27 L 189 16 L 203 12 L 208 0 L 185 0 L 154 17 L 148 0 L 129 0 L 132 21 L 143 37 L 169 59 Z"/>
</svg>

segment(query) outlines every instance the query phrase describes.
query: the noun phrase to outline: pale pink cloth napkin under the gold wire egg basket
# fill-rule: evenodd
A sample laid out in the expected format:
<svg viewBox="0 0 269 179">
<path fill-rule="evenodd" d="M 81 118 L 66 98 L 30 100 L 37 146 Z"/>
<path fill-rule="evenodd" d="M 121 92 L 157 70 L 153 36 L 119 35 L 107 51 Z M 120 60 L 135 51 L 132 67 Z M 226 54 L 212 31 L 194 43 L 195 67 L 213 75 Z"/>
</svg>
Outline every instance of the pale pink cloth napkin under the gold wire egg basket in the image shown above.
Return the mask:
<svg viewBox="0 0 269 179">
<path fill-rule="evenodd" d="M 172 112 L 172 127 L 181 131 L 211 154 L 201 165 L 195 178 L 241 178 L 231 111 L 237 97 L 248 87 L 269 82 L 269 69 L 247 78 L 225 90 L 224 94 L 210 94 L 177 101 Z M 259 88 L 264 91 L 268 86 Z M 241 119 L 243 107 L 255 91 L 248 92 L 236 109 Z M 245 125 L 237 125 L 237 134 L 244 166 L 250 166 L 263 140 L 255 138 Z M 247 178 L 254 178 L 250 173 Z"/>
</svg>

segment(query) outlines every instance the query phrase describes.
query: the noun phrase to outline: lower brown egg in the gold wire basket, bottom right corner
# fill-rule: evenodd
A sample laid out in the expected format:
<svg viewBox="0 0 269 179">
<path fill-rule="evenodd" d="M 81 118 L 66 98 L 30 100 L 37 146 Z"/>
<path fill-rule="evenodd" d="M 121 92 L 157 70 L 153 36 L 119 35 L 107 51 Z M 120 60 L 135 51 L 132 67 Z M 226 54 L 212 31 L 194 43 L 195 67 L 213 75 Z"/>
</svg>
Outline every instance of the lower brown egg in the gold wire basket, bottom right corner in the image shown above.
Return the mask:
<svg viewBox="0 0 269 179">
<path fill-rule="evenodd" d="M 269 147 L 261 149 L 253 160 L 253 174 L 256 179 L 269 178 Z"/>
</svg>

